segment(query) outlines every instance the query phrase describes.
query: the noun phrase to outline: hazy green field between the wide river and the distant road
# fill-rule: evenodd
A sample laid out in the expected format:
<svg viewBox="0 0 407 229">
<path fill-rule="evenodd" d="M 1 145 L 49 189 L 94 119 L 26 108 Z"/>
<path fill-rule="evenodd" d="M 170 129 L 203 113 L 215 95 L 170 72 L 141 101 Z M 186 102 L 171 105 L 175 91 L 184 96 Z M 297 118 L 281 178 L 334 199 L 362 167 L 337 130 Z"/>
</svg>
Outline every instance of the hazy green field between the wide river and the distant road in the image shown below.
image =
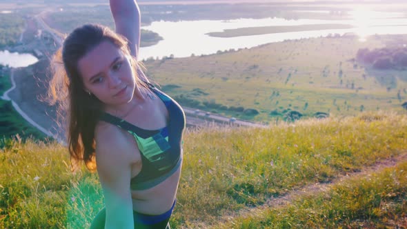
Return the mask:
<svg viewBox="0 0 407 229">
<path fill-rule="evenodd" d="M 404 112 L 407 71 L 373 70 L 355 57 L 359 48 L 395 46 L 405 40 L 376 36 L 361 42 L 353 36 L 334 36 L 144 63 L 148 76 L 181 105 L 242 119 L 281 120 L 289 110 L 306 117 L 316 112 Z M 237 107 L 259 114 L 234 112 Z"/>
</svg>

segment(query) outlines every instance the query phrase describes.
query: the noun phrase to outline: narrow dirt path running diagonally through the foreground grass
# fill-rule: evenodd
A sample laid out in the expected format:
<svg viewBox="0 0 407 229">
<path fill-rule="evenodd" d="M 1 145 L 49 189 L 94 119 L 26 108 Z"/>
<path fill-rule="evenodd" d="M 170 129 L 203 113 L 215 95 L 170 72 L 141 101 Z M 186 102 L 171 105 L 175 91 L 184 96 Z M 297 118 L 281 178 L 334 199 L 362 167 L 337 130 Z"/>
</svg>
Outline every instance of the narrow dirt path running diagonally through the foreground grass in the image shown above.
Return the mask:
<svg viewBox="0 0 407 229">
<path fill-rule="evenodd" d="M 250 217 L 252 215 L 259 215 L 259 213 L 263 212 L 266 209 L 270 208 L 278 208 L 285 206 L 288 203 L 291 203 L 292 200 L 298 199 L 300 197 L 309 196 L 309 195 L 316 195 L 321 192 L 327 192 L 332 188 L 332 186 L 337 185 L 343 181 L 348 179 L 353 179 L 355 177 L 364 177 L 369 175 L 373 172 L 377 172 L 383 170 L 384 168 L 390 168 L 396 166 L 397 163 L 407 161 L 407 150 L 400 152 L 397 157 L 391 157 L 388 159 L 383 159 L 378 161 L 373 166 L 368 166 L 362 169 L 359 172 L 350 172 L 346 174 L 339 175 L 337 178 L 333 179 L 330 183 L 314 183 L 303 188 L 299 188 L 297 190 L 292 190 L 287 192 L 286 195 L 282 195 L 280 197 L 271 198 L 269 199 L 264 205 L 257 206 L 255 208 L 246 208 L 244 210 L 240 210 L 239 212 L 232 213 L 231 215 L 224 215 L 219 219 L 219 222 L 226 223 L 228 221 L 232 221 L 235 217 Z M 213 226 L 216 228 L 216 226 Z"/>
</svg>

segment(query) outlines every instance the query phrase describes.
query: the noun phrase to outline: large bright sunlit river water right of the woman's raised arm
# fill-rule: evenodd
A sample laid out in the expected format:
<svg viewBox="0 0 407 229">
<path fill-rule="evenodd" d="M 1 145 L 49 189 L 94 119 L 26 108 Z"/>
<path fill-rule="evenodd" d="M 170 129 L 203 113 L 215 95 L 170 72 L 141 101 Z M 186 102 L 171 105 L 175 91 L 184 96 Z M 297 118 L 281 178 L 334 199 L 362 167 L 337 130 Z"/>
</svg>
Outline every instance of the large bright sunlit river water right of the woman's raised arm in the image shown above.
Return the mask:
<svg viewBox="0 0 407 229">
<path fill-rule="evenodd" d="M 140 50 L 141 59 L 148 57 L 163 57 L 173 54 L 175 57 L 189 57 L 191 54 L 213 54 L 218 50 L 252 48 L 265 43 L 284 41 L 287 39 L 303 39 L 327 36 L 328 34 L 345 34 L 352 32 L 361 37 L 361 41 L 372 34 L 407 34 L 407 19 L 400 13 L 366 12 L 355 10 L 349 12 L 352 17 L 344 20 L 299 19 L 287 20 L 281 18 L 268 19 L 236 19 L 228 21 L 155 21 L 150 26 L 143 27 L 152 30 L 163 37 L 155 46 Z M 363 16 L 366 14 L 367 16 Z M 301 26 L 321 24 L 344 24 L 354 28 L 312 30 L 301 32 L 281 32 L 261 34 L 246 37 L 210 37 L 208 32 L 222 32 L 236 28 L 252 28 L 261 26 Z"/>
</svg>

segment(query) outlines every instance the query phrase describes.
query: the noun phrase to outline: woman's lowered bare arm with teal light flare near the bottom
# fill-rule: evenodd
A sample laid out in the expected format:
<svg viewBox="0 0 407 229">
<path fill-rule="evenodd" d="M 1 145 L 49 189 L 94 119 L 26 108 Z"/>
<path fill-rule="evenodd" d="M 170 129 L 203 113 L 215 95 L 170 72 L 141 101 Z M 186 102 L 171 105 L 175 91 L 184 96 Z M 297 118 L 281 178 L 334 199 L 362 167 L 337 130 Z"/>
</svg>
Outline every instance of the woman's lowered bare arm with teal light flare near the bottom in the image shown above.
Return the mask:
<svg viewBox="0 0 407 229">
<path fill-rule="evenodd" d="M 97 134 L 97 172 L 105 197 L 105 228 L 134 228 L 128 145 L 118 133 Z"/>
</svg>

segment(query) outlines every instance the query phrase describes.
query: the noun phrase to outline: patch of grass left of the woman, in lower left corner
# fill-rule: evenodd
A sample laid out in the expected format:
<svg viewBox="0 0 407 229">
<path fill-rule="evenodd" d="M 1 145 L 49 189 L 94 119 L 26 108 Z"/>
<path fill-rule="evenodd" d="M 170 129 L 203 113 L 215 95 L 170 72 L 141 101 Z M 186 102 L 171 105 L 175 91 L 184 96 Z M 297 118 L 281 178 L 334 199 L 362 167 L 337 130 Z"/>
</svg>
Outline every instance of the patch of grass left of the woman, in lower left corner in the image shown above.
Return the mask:
<svg viewBox="0 0 407 229">
<path fill-rule="evenodd" d="M 1 228 L 83 228 L 95 215 L 92 195 L 101 206 L 97 178 L 83 171 L 72 175 L 63 146 L 16 140 L 2 151 Z"/>
</svg>

